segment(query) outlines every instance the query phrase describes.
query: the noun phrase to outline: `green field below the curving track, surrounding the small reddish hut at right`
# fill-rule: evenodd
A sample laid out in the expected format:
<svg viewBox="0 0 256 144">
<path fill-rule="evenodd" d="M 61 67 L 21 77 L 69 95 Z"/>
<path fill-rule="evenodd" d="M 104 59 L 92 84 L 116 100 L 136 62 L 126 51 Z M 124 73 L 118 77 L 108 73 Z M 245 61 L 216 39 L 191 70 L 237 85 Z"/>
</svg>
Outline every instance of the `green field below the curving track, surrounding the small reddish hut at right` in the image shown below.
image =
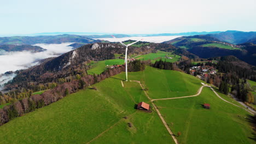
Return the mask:
<svg viewBox="0 0 256 144">
<path fill-rule="evenodd" d="M 211 104 L 204 109 L 202 104 Z M 155 103 L 165 117 L 179 143 L 254 143 L 249 126 L 249 113 L 225 103 L 210 88 L 198 97 L 159 100 Z"/>
</svg>

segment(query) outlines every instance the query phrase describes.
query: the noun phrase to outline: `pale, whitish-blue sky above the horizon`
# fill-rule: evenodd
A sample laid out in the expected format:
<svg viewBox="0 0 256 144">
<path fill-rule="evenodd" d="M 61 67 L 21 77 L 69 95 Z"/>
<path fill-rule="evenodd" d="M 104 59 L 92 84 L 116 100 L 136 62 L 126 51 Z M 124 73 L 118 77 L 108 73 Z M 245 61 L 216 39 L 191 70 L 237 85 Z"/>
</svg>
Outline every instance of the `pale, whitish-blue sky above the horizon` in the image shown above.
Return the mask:
<svg viewBox="0 0 256 144">
<path fill-rule="evenodd" d="M 256 31 L 255 0 L 0 0 L 0 35 Z"/>
</svg>

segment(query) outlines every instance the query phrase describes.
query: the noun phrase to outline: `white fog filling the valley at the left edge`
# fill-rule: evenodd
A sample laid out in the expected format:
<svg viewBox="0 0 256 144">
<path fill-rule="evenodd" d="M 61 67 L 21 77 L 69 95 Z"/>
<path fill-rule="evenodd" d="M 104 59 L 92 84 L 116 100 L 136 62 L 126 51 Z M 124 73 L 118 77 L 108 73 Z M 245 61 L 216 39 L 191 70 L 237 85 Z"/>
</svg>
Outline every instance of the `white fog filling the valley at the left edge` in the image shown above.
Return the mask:
<svg viewBox="0 0 256 144">
<path fill-rule="evenodd" d="M 13 79 L 14 74 L 3 75 L 7 71 L 15 71 L 19 69 L 26 69 L 33 65 L 38 64 L 38 60 L 60 56 L 62 53 L 72 50 L 73 43 L 62 44 L 36 44 L 36 46 L 43 47 L 46 51 L 32 53 L 30 51 L 22 52 L 4 52 L 0 55 L 0 89 L 1 85 Z"/>
</svg>

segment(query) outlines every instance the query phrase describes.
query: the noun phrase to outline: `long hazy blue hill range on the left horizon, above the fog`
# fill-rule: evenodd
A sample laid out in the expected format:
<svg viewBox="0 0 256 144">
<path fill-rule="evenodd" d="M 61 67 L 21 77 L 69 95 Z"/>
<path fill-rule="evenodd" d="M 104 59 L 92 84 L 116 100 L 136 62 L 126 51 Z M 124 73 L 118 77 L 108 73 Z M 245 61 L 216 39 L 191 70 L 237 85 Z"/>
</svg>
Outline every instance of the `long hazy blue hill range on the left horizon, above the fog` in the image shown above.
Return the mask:
<svg viewBox="0 0 256 144">
<path fill-rule="evenodd" d="M 61 43 L 97 43 L 102 40 L 94 40 L 83 35 L 39 35 L 34 37 L 15 36 L 15 37 L 0 37 L 0 45 L 33 45 L 33 44 L 61 44 Z"/>
</svg>

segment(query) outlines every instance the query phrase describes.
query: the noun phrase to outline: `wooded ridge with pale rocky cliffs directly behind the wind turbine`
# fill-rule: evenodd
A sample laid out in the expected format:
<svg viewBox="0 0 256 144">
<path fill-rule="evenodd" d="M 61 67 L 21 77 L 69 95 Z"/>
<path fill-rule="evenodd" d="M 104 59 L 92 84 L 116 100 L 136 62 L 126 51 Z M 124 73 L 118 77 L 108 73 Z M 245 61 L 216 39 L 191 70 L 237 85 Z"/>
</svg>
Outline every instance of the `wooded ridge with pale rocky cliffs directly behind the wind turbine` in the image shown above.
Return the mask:
<svg viewBox="0 0 256 144">
<path fill-rule="evenodd" d="M 150 43 L 141 47 L 129 47 L 130 55 L 143 55 L 157 50 L 169 52 L 176 51 L 177 48 L 168 44 Z M 124 47 L 116 43 L 96 43 L 88 44 L 73 51 L 64 53 L 56 58 L 49 58 L 40 65 L 36 65 L 26 70 L 18 71 L 18 75 L 13 79 L 8 89 L 14 88 L 15 84 L 22 87 L 28 87 L 27 82 L 46 83 L 56 82 L 60 78 L 72 77 L 77 74 L 86 75 L 90 61 L 104 61 L 114 59 L 115 53 L 123 54 Z M 177 52 L 176 55 L 183 55 Z M 187 56 L 194 56 L 191 53 L 185 53 Z M 196 57 L 196 56 L 195 56 Z"/>
</svg>

